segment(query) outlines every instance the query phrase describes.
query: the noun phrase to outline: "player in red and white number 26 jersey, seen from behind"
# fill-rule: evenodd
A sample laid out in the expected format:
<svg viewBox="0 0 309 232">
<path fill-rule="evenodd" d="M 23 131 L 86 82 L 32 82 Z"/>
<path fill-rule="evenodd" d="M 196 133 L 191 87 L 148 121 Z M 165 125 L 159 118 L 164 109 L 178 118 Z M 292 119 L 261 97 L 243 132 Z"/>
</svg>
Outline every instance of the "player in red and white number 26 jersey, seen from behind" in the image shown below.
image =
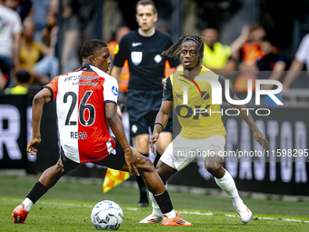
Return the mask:
<svg viewBox="0 0 309 232">
<path fill-rule="evenodd" d="M 106 72 L 111 64 L 107 45 L 100 40 L 88 40 L 82 47 L 83 66 L 44 86 L 33 102 L 33 138 L 27 152 L 35 155 L 41 143 L 40 121 L 43 105 L 56 101 L 60 157 L 55 166 L 45 170 L 25 200 L 13 211 L 14 223 L 25 223 L 31 207 L 56 182 L 83 163 L 95 163 L 117 170 L 135 171 L 141 175 L 161 210 L 168 217 L 164 226 L 192 226 L 174 212 L 154 165 L 131 147 L 124 126 L 117 115 L 118 85 Z M 110 126 L 115 137 L 110 136 Z"/>
</svg>

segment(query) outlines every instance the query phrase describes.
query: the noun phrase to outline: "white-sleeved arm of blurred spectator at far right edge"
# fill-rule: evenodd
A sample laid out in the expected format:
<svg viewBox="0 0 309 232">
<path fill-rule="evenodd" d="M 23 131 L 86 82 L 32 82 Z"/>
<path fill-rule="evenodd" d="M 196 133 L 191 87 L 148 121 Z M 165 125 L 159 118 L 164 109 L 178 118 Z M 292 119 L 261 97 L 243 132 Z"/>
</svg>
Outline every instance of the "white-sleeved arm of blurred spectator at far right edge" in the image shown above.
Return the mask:
<svg viewBox="0 0 309 232">
<path fill-rule="evenodd" d="M 294 61 L 289 68 L 290 72 L 287 72 L 284 78 L 284 90 L 290 88 L 295 78 L 299 75 L 299 71 L 302 71 L 304 69 L 304 64 L 309 71 L 309 34 L 304 35 L 304 38 L 295 54 Z"/>
</svg>

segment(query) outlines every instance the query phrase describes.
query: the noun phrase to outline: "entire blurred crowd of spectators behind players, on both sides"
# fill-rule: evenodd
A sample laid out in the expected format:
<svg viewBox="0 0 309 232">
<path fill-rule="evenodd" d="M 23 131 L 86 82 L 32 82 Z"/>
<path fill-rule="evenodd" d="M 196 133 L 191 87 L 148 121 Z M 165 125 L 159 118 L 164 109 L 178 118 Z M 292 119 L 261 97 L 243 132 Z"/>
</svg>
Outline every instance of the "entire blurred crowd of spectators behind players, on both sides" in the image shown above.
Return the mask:
<svg viewBox="0 0 309 232">
<path fill-rule="evenodd" d="M 81 7 L 75 2 L 61 1 L 65 34 L 61 54 L 56 54 L 58 0 L 0 0 L 0 91 L 26 94 L 29 88 L 39 89 L 50 82 L 59 74 L 59 66 L 62 66 L 62 73 L 79 66 L 80 57 L 75 49 L 79 48 L 79 40 L 76 38 L 83 35 L 86 40 L 91 36 L 86 30 L 95 31 L 92 26 L 84 26 L 81 34 L 81 18 L 83 22 L 91 21 L 95 4 L 92 0 L 81 1 L 86 5 Z M 158 30 L 162 28 L 162 25 L 157 26 Z M 116 45 L 129 32 L 130 28 L 125 25 L 116 30 L 108 44 L 112 58 Z M 204 40 L 204 66 L 230 79 L 230 86 L 239 96 L 246 96 L 248 80 L 253 81 L 253 91 L 256 79 L 280 81 L 284 90 L 297 87 L 294 80 L 298 73 L 295 71 L 309 67 L 309 35 L 304 36 L 292 61 L 281 53 L 262 25 L 244 25 L 241 35 L 231 45 L 220 43 L 220 35 L 214 27 L 204 28 L 200 35 Z M 57 57 L 61 57 L 61 64 Z M 173 71 L 166 62 L 165 76 Z M 125 62 L 120 91 L 127 91 L 129 77 Z M 262 86 L 263 89 L 275 87 Z"/>
</svg>

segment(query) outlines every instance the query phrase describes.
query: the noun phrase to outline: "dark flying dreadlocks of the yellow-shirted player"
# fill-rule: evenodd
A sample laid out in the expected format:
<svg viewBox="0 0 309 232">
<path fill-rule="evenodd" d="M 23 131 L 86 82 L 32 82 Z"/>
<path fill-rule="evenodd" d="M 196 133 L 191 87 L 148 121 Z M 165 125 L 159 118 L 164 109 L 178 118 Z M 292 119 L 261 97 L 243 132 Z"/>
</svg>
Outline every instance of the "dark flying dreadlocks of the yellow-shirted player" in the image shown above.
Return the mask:
<svg viewBox="0 0 309 232">
<path fill-rule="evenodd" d="M 182 45 L 184 44 L 184 41 L 192 40 L 197 44 L 197 52 L 198 52 L 198 59 L 200 63 L 203 61 L 204 57 L 204 42 L 202 38 L 198 35 L 183 35 L 181 36 L 170 48 L 166 49 L 161 53 L 161 55 L 165 55 L 169 58 L 179 58 L 180 56 L 180 50 L 182 48 Z"/>
</svg>

